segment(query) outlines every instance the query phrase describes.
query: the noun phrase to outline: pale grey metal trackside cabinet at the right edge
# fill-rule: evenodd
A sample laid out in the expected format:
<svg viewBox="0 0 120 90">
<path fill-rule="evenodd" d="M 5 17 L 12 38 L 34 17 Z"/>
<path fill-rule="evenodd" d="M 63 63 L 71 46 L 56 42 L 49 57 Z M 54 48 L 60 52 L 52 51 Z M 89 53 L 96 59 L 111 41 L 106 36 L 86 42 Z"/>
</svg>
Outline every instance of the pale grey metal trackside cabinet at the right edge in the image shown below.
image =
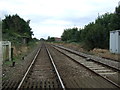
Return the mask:
<svg viewBox="0 0 120 90">
<path fill-rule="evenodd" d="M 110 31 L 110 52 L 120 54 L 120 30 Z"/>
</svg>

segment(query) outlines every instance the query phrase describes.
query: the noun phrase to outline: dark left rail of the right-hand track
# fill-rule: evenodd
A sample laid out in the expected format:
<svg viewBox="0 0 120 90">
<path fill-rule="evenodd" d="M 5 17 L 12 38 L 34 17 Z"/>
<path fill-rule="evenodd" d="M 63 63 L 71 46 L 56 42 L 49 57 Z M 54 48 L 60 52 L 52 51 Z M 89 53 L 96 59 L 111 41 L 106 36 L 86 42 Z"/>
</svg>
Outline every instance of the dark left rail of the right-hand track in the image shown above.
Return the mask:
<svg viewBox="0 0 120 90">
<path fill-rule="evenodd" d="M 116 87 L 120 88 L 120 85 L 116 84 L 115 82 L 113 82 L 112 80 L 106 78 L 106 77 L 103 77 L 102 75 L 98 74 L 97 72 L 91 70 L 90 68 L 86 67 L 85 65 L 81 64 L 80 62 L 76 61 L 74 58 L 70 57 L 69 55 L 65 54 L 64 52 L 58 50 L 55 46 L 53 46 L 53 48 L 55 48 L 57 51 L 59 51 L 60 53 L 62 53 L 63 55 L 67 56 L 68 58 L 72 59 L 74 62 L 82 65 L 83 67 L 85 67 L 86 69 L 90 70 L 91 72 L 95 73 L 96 75 L 102 77 L 103 79 L 107 80 L 108 82 L 110 82 L 111 84 L 115 85 Z M 59 48 L 59 47 L 58 47 Z"/>
</svg>

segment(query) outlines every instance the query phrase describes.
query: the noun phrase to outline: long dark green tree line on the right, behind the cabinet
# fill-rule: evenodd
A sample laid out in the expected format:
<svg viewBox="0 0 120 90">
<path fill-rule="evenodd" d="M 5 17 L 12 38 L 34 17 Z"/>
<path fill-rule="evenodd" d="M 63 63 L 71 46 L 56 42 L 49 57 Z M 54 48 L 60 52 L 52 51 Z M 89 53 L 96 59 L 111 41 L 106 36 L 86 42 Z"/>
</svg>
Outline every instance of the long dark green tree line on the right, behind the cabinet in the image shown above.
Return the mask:
<svg viewBox="0 0 120 90">
<path fill-rule="evenodd" d="M 64 29 L 62 40 L 67 42 L 82 42 L 88 50 L 93 48 L 109 48 L 109 33 L 120 29 L 120 6 L 114 13 L 105 13 L 98 16 L 94 22 L 90 22 L 81 28 Z"/>
</svg>

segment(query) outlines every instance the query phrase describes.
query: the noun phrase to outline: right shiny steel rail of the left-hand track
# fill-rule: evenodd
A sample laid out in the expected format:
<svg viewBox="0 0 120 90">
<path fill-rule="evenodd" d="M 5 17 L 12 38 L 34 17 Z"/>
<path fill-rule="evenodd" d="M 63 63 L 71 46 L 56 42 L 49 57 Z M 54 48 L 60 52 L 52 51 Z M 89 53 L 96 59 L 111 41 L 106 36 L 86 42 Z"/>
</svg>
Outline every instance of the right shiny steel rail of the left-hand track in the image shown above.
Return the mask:
<svg viewBox="0 0 120 90">
<path fill-rule="evenodd" d="M 51 54 L 50 54 L 50 52 L 49 52 L 49 50 L 48 50 L 47 47 L 46 47 L 46 50 L 47 50 L 47 53 L 48 53 L 48 55 L 49 55 L 49 57 L 50 57 L 51 63 L 52 63 L 52 65 L 53 65 L 54 69 L 55 69 L 55 72 L 56 72 L 56 74 L 57 74 L 57 77 L 58 77 L 58 79 L 59 79 L 59 81 L 60 81 L 60 84 L 61 84 L 61 86 L 62 86 L 62 89 L 63 89 L 63 90 L 66 90 L 66 89 L 65 89 L 65 85 L 63 84 L 63 81 L 62 81 L 62 79 L 61 79 L 61 76 L 60 76 L 60 74 L 59 74 L 59 72 L 58 72 L 58 70 L 57 70 L 57 67 L 56 67 L 55 63 L 54 63 L 54 60 L 53 60 L 53 58 L 52 58 L 52 56 L 51 56 Z"/>
</svg>

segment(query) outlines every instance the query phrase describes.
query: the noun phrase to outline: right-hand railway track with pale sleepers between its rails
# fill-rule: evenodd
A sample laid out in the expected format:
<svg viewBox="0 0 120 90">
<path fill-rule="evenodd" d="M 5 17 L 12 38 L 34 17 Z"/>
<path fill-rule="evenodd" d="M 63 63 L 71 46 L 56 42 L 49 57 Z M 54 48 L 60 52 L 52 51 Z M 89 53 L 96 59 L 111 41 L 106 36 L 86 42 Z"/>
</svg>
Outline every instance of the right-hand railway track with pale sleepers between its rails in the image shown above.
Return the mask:
<svg viewBox="0 0 120 90">
<path fill-rule="evenodd" d="M 87 56 L 81 56 L 78 53 L 75 53 L 74 51 L 72 52 L 72 50 L 66 49 L 61 46 L 55 45 L 53 47 L 56 50 L 58 50 L 60 53 L 71 58 L 74 62 L 82 65 L 86 69 L 90 70 L 91 72 L 95 73 L 96 75 L 102 77 L 103 79 L 107 80 L 111 84 L 120 88 L 120 80 L 119 80 L 120 70 L 119 70 L 119 68 L 114 68 L 113 66 L 97 62 L 96 60 L 92 60 L 91 58 L 89 58 Z"/>
</svg>

